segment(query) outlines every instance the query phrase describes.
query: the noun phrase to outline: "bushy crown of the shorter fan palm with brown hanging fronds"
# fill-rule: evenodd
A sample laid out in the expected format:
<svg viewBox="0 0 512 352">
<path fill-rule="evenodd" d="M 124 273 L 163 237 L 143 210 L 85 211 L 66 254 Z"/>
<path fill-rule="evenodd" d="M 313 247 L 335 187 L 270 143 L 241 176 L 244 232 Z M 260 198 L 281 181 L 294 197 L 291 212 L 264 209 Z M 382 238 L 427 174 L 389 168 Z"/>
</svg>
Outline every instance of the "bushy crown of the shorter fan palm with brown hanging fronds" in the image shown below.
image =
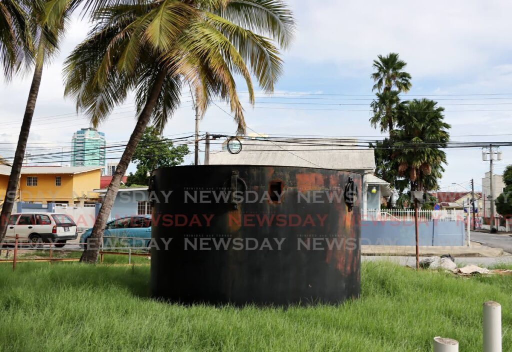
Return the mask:
<svg viewBox="0 0 512 352">
<path fill-rule="evenodd" d="M 414 99 L 398 115 L 391 133 L 393 159 L 398 174 L 408 180 L 412 191 L 438 189 L 444 171 L 446 153 L 442 148 L 450 140 L 449 124 L 444 122 L 444 108 L 430 99 Z"/>
</svg>

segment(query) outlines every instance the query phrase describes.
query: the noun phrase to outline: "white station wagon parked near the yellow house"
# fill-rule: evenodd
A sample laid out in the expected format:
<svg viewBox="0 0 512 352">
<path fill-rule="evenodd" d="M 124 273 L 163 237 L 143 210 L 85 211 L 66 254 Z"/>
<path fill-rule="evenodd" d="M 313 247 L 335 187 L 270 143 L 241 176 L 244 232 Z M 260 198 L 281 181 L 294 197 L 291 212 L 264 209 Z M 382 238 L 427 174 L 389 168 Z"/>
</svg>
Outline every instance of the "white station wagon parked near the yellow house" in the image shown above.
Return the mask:
<svg viewBox="0 0 512 352">
<path fill-rule="evenodd" d="M 41 243 L 55 243 L 64 247 L 69 239 L 78 236 L 77 227 L 71 217 L 56 213 L 18 213 L 9 217 L 6 243 L 14 243 L 18 235 L 19 243 L 29 243 L 33 247 Z"/>
</svg>

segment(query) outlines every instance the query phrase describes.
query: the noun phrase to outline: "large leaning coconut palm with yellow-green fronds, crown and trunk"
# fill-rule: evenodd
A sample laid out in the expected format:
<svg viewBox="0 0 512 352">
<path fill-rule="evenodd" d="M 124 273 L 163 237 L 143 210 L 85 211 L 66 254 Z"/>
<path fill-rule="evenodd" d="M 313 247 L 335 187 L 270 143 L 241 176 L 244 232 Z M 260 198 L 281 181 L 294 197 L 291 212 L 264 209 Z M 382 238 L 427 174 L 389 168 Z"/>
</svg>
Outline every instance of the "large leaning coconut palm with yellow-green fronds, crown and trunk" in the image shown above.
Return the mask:
<svg viewBox="0 0 512 352">
<path fill-rule="evenodd" d="M 121 177 L 149 123 L 162 130 L 191 87 L 202 117 L 226 101 L 245 132 L 233 74 L 254 102 L 251 75 L 266 92 L 282 74 L 278 47 L 293 37 L 294 19 L 280 0 L 158 0 L 106 5 L 93 14 L 88 38 L 65 63 L 66 95 L 96 126 L 134 91 L 136 125 L 116 168 L 81 260 L 95 262 Z"/>
</svg>

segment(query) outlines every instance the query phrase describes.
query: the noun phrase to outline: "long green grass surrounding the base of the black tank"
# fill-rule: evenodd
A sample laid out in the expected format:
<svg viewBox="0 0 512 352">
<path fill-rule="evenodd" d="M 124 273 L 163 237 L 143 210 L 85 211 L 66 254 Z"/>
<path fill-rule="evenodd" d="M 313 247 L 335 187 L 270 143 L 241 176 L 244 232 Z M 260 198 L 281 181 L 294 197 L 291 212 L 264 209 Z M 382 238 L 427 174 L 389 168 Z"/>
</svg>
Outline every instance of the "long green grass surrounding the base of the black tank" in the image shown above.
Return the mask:
<svg viewBox="0 0 512 352">
<path fill-rule="evenodd" d="M 482 303 L 503 311 L 512 278 L 461 278 L 387 262 L 362 267 L 361 298 L 338 306 L 182 306 L 148 298 L 149 266 L 0 266 L 2 351 L 431 351 L 434 336 L 482 350 Z"/>
</svg>

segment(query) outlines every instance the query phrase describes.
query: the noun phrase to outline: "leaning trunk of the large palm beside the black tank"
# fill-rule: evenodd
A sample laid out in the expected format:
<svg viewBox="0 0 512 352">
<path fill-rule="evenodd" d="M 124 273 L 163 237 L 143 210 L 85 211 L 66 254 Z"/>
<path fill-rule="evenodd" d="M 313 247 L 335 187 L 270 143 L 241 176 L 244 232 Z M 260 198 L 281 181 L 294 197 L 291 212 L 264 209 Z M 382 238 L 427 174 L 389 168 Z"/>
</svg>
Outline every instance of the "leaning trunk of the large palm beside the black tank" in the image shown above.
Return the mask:
<svg viewBox="0 0 512 352">
<path fill-rule="evenodd" d="M 130 140 L 128 141 L 128 144 L 123 151 L 123 155 L 116 167 L 116 171 L 114 172 L 114 176 L 112 177 L 109 188 L 106 190 L 106 194 L 103 199 L 103 203 L 101 204 L 98 217 L 94 223 L 93 231 L 88 239 L 88 245 L 80 257 L 80 261 L 82 262 L 95 263 L 98 260 L 100 244 L 103 241 L 103 231 L 105 230 L 106 221 L 109 218 L 112 205 L 116 199 L 116 194 L 119 190 L 121 178 L 123 177 L 124 173 L 126 172 L 126 168 L 132 160 L 135 148 L 137 147 L 137 144 L 139 143 L 139 140 L 142 137 L 147 124 L 150 122 L 153 108 L 155 107 L 158 96 L 160 95 L 160 91 L 162 90 L 166 75 L 167 70 L 162 69 L 155 80 L 155 84 L 153 85 L 149 96 L 147 97 L 146 104 L 144 105 L 144 108 L 139 115 L 137 124 L 135 125 L 132 135 L 130 136 Z"/>
</svg>

